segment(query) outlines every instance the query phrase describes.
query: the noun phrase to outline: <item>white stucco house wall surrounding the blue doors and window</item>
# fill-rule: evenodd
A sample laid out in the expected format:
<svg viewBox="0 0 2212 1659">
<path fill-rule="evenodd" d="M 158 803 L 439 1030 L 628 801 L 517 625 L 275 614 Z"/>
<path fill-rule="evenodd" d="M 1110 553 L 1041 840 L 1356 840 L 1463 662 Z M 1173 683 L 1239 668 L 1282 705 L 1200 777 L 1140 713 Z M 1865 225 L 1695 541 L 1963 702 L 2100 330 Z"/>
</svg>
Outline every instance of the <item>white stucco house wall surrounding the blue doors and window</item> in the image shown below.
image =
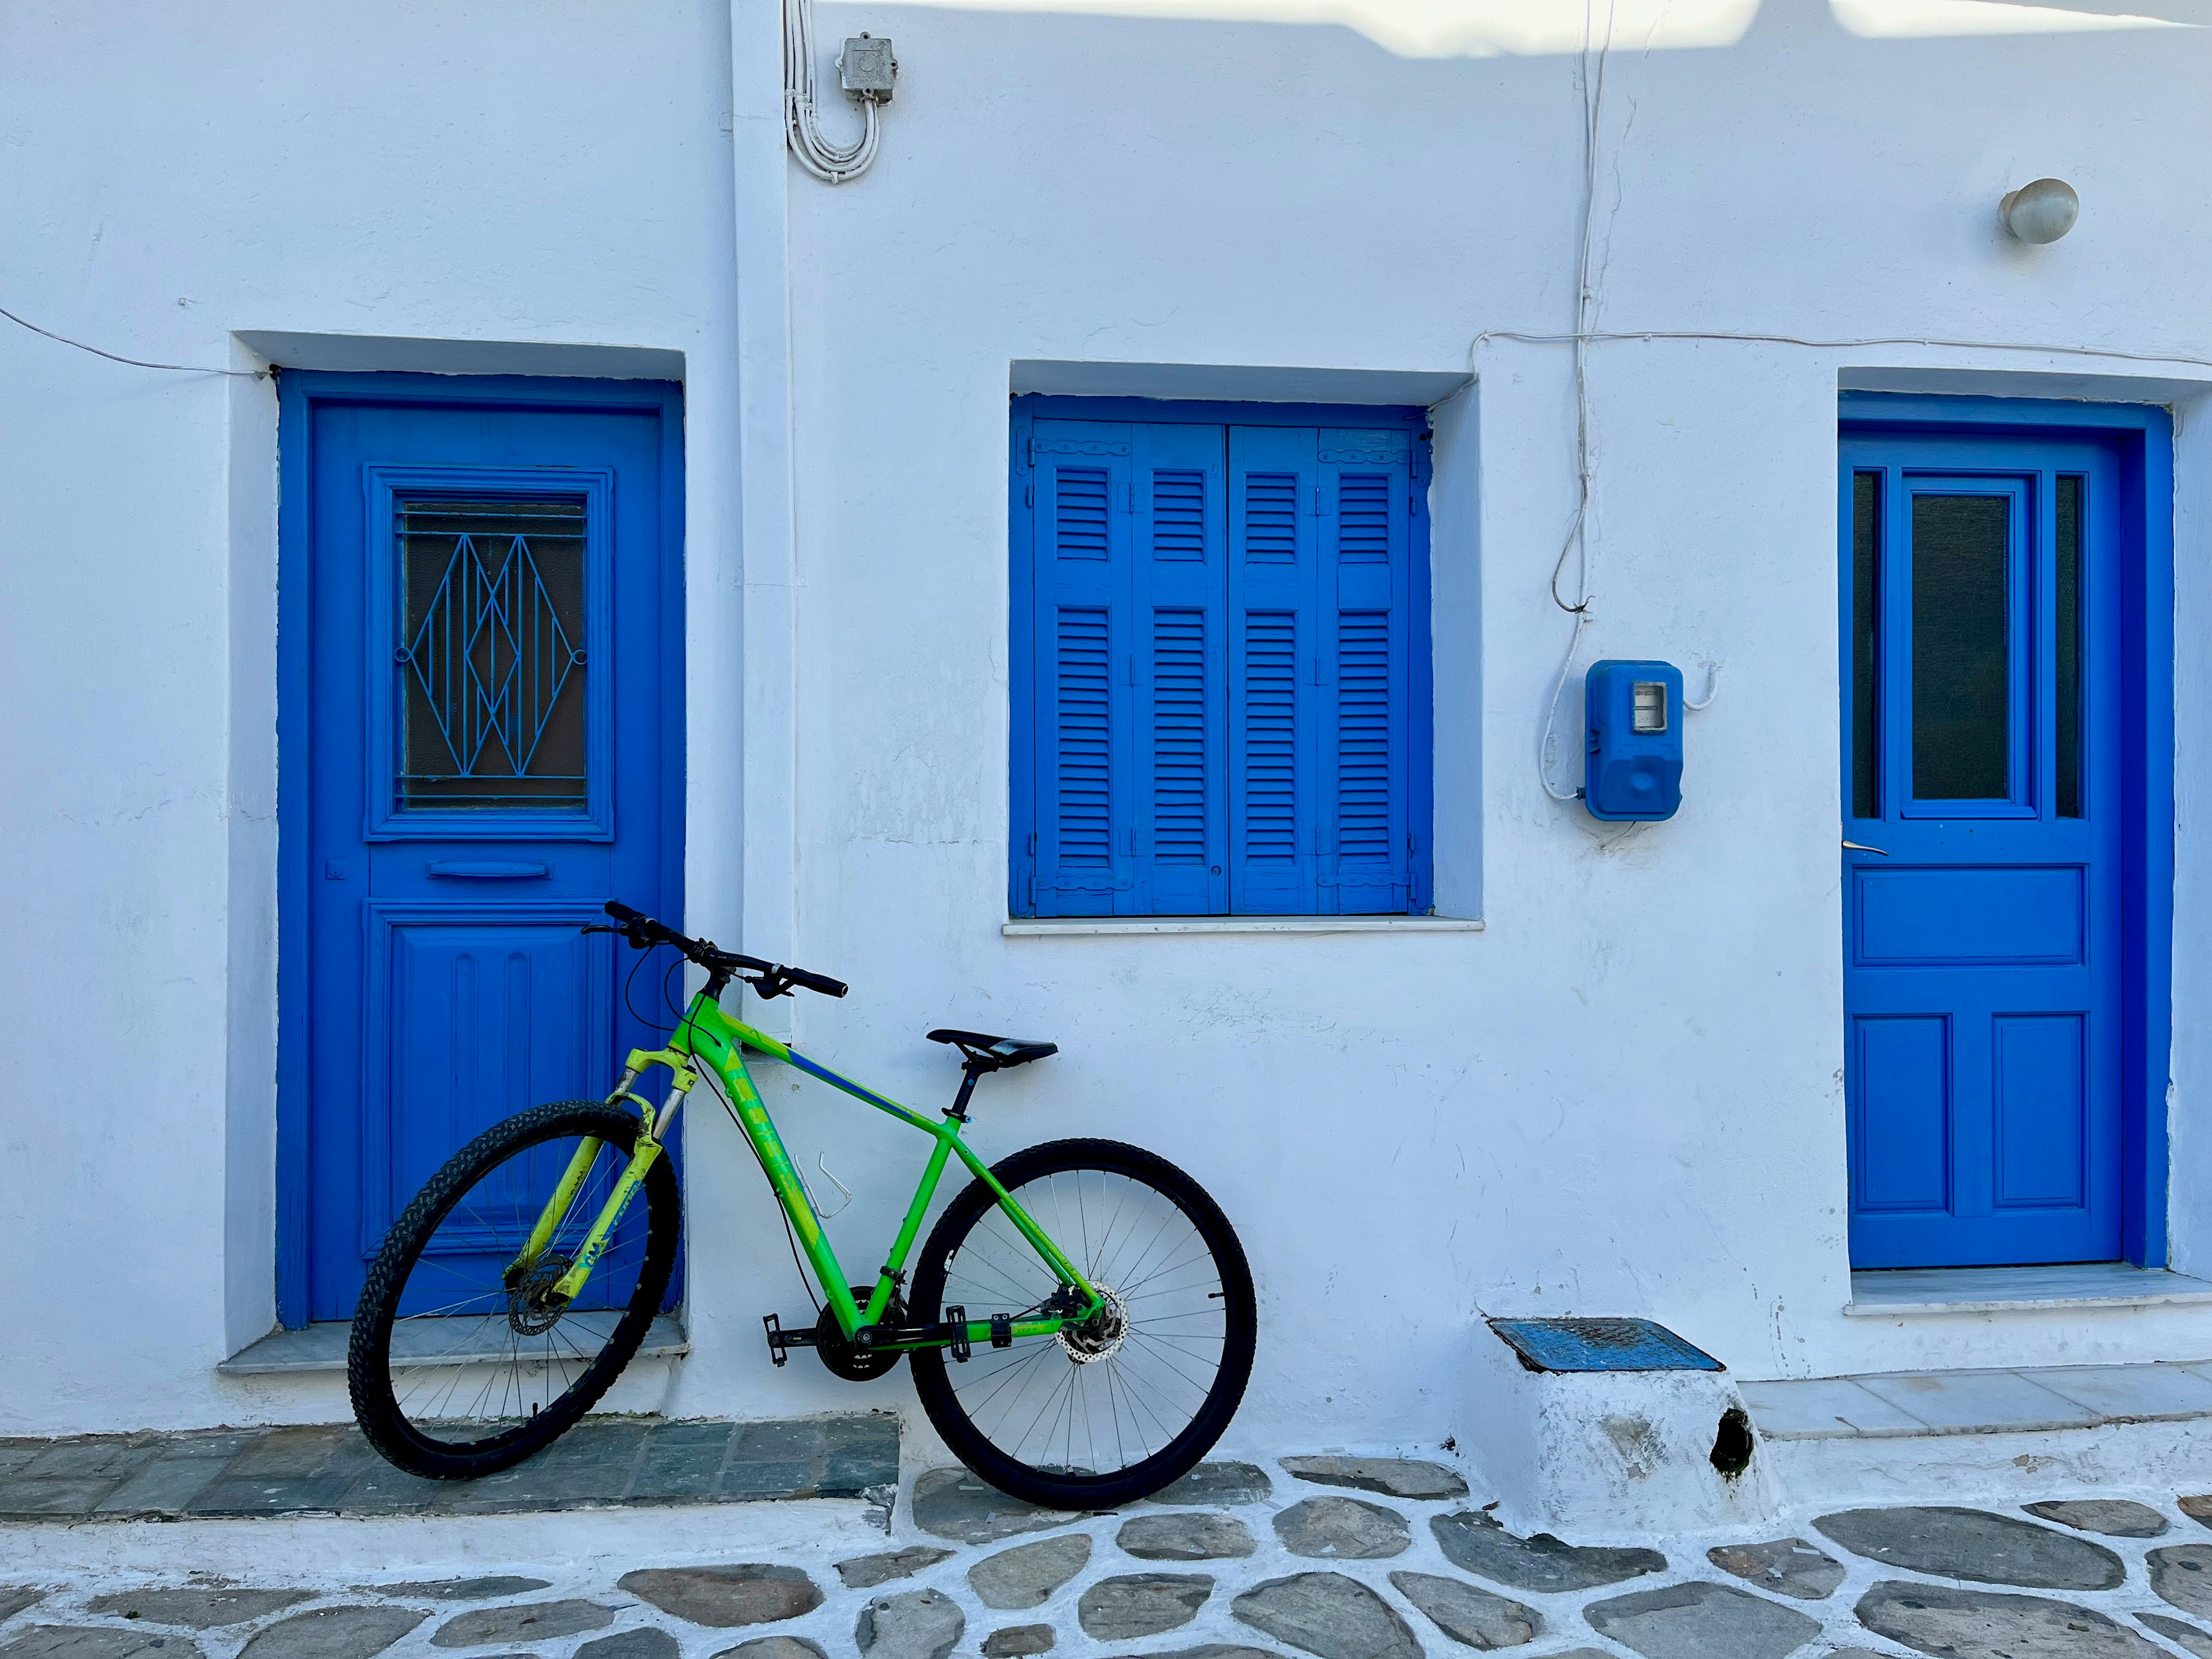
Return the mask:
<svg viewBox="0 0 2212 1659">
<path fill-rule="evenodd" d="M 984 1084 L 984 1150 L 1115 1135 L 1199 1175 L 1261 1279 L 1232 1440 L 1440 1440 L 1478 1310 L 1648 1314 L 1743 1376 L 2203 1358 L 2205 1318 L 2172 1310 L 1840 1314 L 1834 418 L 1838 383 L 2179 409 L 2172 1232 L 2212 1265 L 2185 1013 L 2212 372 L 1595 347 L 1582 659 L 1668 657 L 1692 690 L 1723 664 L 1681 816 L 1621 836 L 1533 770 L 1566 639 L 1544 582 L 1568 356 L 1491 343 L 1440 414 L 1433 546 L 1440 896 L 1484 931 L 1000 933 L 1011 365 L 1449 376 L 1482 330 L 1573 316 L 1571 55 L 1416 58 L 1230 9 L 823 7 L 825 42 L 891 33 L 907 71 L 876 173 L 825 190 L 781 159 L 759 0 L 15 4 L 0 303 L 177 363 L 252 363 L 252 341 L 334 361 L 312 345 L 334 334 L 681 354 L 690 920 L 849 978 L 774 1018 L 914 1102 L 953 1082 L 931 1024 L 1055 1037 Z M 1721 44 L 1608 62 L 1606 327 L 2212 356 L 2212 226 L 2170 161 L 2212 126 L 2212 38 L 1734 13 Z M 2042 173 L 2081 190 L 2081 228 L 2006 243 L 1995 201 Z M 268 1325 L 265 385 L 9 330 L 0 387 L 0 1431 L 334 1416 L 330 1387 L 212 1376 Z M 801 1164 L 827 1150 L 852 1214 L 885 1217 L 918 1148 L 774 1068 L 763 1086 Z M 688 1137 L 695 1352 L 668 1409 L 902 1400 L 902 1378 L 768 1367 L 759 1314 L 803 1305 L 781 1232 L 734 1130 L 699 1113 Z M 849 1219 L 832 1237 L 863 1270 L 883 1248 Z"/>
</svg>

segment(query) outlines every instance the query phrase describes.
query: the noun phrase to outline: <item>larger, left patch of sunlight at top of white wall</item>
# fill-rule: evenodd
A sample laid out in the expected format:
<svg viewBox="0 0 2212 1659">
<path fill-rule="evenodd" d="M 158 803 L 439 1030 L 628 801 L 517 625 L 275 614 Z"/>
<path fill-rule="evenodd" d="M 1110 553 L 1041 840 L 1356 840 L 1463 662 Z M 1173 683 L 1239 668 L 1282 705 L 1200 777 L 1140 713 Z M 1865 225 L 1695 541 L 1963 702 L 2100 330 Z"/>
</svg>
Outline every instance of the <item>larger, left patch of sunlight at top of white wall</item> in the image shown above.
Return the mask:
<svg viewBox="0 0 2212 1659">
<path fill-rule="evenodd" d="M 1060 11 L 1197 22 L 1340 24 L 1398 58 L 1582 51 L 1584 18 L 1606 33 L 1606 0 L 891 0 L 964 11 Z M 1840 0 L 1838 0 L 1840 4 Z M 2024 7 L 2015 7 L 2024 9 Z M 1613 0 L 1613 49 L 1734 46 L 1759 0 Z"/>
</svg>

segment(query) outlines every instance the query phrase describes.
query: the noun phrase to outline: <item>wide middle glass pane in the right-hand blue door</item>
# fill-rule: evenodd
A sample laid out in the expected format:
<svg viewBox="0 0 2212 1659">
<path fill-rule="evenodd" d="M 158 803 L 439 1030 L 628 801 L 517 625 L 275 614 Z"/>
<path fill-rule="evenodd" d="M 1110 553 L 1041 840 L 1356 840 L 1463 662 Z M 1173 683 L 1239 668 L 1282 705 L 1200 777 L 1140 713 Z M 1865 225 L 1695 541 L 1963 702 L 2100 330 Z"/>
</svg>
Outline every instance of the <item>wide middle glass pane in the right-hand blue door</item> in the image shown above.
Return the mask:
<svg viewBox="0 0 2212 1659">
<path fill-rule="evenodd" d="M 2011 796 L 2004 495 L 1913 495 L 1913 796 Z"/>
</svg>

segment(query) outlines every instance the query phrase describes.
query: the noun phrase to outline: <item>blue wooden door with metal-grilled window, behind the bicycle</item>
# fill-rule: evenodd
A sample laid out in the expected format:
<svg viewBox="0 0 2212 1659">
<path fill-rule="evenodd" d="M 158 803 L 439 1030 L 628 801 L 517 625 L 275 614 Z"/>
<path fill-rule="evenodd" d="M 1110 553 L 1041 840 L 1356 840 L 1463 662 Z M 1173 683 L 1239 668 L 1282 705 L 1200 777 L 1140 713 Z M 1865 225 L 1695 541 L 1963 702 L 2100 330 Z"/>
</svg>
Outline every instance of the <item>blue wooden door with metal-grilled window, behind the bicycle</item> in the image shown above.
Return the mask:
<svg viewBox="0 0 2212 1659">
<path fill-rule="evenodd" d="M 672 387 L 290 392 L 307 500 L 288 518 L 305 630 L 285 653 L 305 706 L 283 739 L 305 748 L 288 768 L 305 792 L 281 812 L 307 854 L 305 982 L 285 987 L 305 1031 L 292 1002 L 283 1018 L 310 1099 L 305 1157 L 283 1159 L 307 1186 L 290 1194 L 307 1261 L 281 1276 L 299 1323 L 352 1314 L 392 1219 L 456 1148 L 604 1095 L 650 1037 L 611 940 L 577 929 L 615 896 L 681 914 L 681 495 Z"/>
</svg>

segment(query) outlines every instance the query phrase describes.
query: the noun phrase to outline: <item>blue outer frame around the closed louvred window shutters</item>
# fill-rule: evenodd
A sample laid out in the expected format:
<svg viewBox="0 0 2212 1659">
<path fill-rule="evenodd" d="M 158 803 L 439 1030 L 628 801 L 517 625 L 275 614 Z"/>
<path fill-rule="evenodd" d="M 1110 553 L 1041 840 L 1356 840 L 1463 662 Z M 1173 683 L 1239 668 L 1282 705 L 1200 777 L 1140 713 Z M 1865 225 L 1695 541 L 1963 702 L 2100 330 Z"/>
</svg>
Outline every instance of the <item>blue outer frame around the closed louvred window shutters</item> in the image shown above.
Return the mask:
<svg viewBox="0 0 2212 1659">
<path fill-rule="evenodd" d="M 1011 398 L 1006 524 L 1009 524 L 1009 856 L 1006 914 L 1011 920 L 1037 918 L 1035 874 L 1040 843 L 1040 770 L 1037 754 L 1037 672 L 1040 653 L 1033 619 L 1037 615 L 1037 546 L 1033 489 L 1037 467 L 1031 449 L 1037 420 L 1106 420 L 1159 425 L 1230 427 L 1352 427 L 1369 431 L 1405 431 L 1409 438 L 1409 531 L 1407 531 L 1407 907 L 1402 911 L 1352 911 L 1352 916 L 1431 916 L 1436 907 L 1433 799 L 1436 799 L 1436 697 L 1433 697 L 1433 624 L 1431 624 L 1431 544 L 1429 484 L 1433 476 L 1431 416 L 1422 407 L 1363 403 L 1237 403 L 1199 398 L 1086 398 L 1060 394 L 1018 394 Z M 1228 721 L 1223 721 L 1223 737 Z M 1124 827 L 1115 818 L 1115 834 Z M 1305 821 L 1301 821 L 1301 832 Z M 1250 922 L 1296 920 L 1303 916 L 1336 916 L 1318 905 L 1298 911 L 1241 911 L 1234 894 L 1219 911 L 1121 911 L 1084 920 L 1192 920 Z"/>
</svg>

